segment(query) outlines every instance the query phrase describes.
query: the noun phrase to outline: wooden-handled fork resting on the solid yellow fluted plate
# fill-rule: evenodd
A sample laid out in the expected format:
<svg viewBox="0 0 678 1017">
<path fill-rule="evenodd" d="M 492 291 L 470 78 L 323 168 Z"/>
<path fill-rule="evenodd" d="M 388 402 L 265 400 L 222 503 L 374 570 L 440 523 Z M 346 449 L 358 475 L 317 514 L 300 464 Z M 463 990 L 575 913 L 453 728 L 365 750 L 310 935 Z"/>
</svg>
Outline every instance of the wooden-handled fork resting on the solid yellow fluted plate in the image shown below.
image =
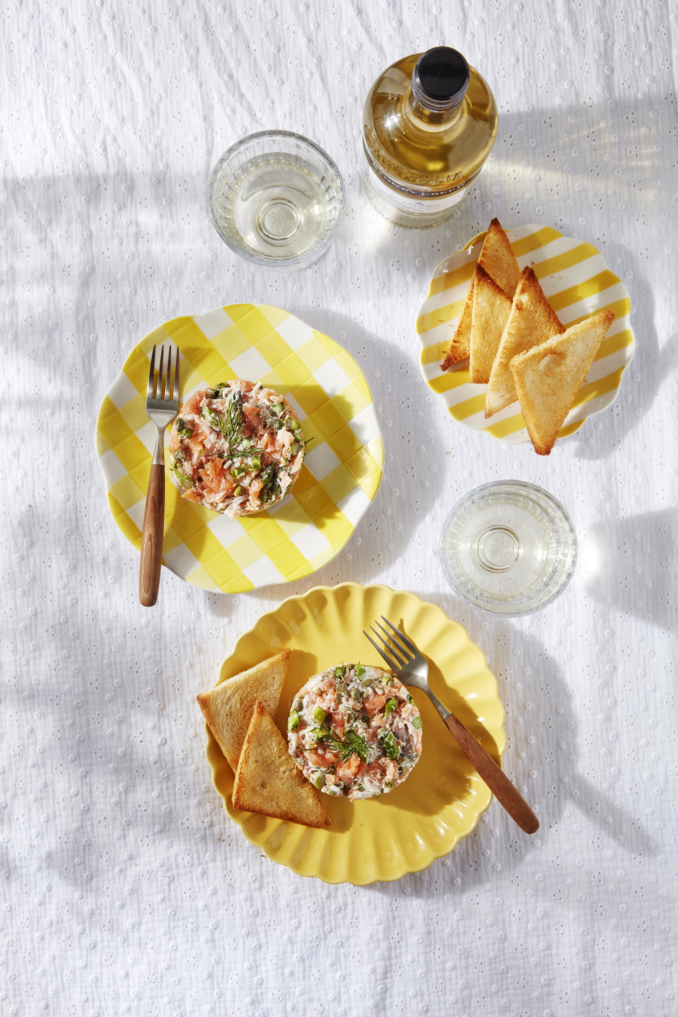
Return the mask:
<svg viewBox="0 0 678 1017">
<path fill-rule="evenodd" d="M 374 649 L 386 661 L 391 670 L 398 672 L 398 677 L 404 684 L 415 685 L 426 693 L 433 703 L 444 723 L 447 725 L 452 737 L 459 749 L 467 757 L 471 765 L 478 771 L 487 786 L 490 788 L 495 798 L 504 806 L 508 815 L 517 823 L 526 833 L 536 833 L 539 830 L 539 820 L 525 798 L 516 791 L 510 780 L 497 766 L 492 757 L 483 749 L 480 741 L 474 738 L 471 731 L 467 730 L 460 720 L 444 706 L 437 696 L 435 696 L 428 683 L 428 661 L 419 652 L 412 640 L 402 633 L 395 625 L 391 624 L 388 618 L 381 615 L 391 632 L 387 632 L 378 621 L 375 624 L 384 636 L 370 625 L 370 629 L 378 640 L 383 644 L 383 649 L 368 636 L 365 630 L 363 635 L 370 641 Z"/>
</svg>

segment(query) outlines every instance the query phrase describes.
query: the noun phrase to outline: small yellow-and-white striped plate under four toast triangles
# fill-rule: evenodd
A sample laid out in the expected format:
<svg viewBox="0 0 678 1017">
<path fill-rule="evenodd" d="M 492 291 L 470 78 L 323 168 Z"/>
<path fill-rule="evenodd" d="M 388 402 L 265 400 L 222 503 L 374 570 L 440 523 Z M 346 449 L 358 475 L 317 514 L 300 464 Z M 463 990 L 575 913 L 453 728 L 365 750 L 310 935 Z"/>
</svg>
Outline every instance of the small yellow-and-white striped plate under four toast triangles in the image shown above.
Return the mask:
<svg viewBox="0 0 678 1017">
<path fill-rule="evenodd" d="M 562 438 L 577 430 L 587 417 L 605 410 L 617 397 L 622 371 L 635 352 L 628 290 L 610 272 L 600 251 L 589 243 L 563 237 L 549 226 L 521 226 L 507 230 L 507 236 L 518 265 L 525 268 L 529 264 L 535 270 L 546 299 L 562 324 L 575 324 L 606 307 L 615 312 L 612 327 L 558 432 Z M 469 362 L 454 365 L 444 373 L 440 370 L 484 240 L 485 234 L 480 233 L 463 250 L 441 261 L 433 273 L 429 295 L 417 314 L 421 371 L 454 420 L 466 427 L 487 431 L 500 441 L 517 444 L 529 440 L 517 403 L 488 421 L 485 419 L 487 385 L 471 384 Z"/>
</svg>

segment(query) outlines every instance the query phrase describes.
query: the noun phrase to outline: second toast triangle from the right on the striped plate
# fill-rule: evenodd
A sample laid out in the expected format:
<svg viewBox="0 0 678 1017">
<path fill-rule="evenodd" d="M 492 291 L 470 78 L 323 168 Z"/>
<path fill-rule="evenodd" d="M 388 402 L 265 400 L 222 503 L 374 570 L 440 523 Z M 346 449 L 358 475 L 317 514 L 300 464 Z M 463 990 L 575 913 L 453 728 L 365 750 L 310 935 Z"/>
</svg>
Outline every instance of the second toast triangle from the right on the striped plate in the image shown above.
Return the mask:
<svg viewBox="0 0 678 1017">
<path fill-rule="evenodd" d="M 560 336 L 564 331 L 551 310 L 537 276 L 532 268 L 523 268 L 490 372 L 485 397 L 486 419 L 517 399 L 513 375 L 508 368 L 509 361 L 518 353 L 539 346 L 552 336 Z"/>
</svg>

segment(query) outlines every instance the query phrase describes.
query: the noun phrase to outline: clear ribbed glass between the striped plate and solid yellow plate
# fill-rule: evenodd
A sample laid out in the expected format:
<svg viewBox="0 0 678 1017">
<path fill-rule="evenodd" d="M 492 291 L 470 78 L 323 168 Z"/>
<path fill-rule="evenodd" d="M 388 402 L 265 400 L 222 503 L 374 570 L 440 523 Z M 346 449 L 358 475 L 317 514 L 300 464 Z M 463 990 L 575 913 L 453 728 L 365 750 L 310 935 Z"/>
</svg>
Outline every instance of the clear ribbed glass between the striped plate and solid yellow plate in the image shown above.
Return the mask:
<svg viewBox="0 0 678 1017">
<path fill-rule="evenodd" d="M 483 484 L 460 498 L 440 537 L 440 561 L 459 597 L 496 614 L 531 614 L 563 592 L 576 534 L 556 498 L 520 480 Z"/>
</svg>

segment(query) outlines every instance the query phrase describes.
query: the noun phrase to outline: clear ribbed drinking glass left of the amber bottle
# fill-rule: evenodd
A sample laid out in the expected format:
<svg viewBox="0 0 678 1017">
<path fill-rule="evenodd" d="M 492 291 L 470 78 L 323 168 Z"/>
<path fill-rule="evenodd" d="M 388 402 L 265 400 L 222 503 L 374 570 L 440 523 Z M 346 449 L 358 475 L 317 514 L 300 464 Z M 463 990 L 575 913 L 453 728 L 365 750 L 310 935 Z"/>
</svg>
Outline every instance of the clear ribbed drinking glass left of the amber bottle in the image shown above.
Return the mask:
<svg viewBox="0 0 678 1017">
<path fill-rule="evenodd" d="M 301 134 L 262 130 L 224 153 L 209 216 L 225 244 L 255 264 L 302 268 L 329 247 L 346 204 L 342 174 Z"/>
</svg>

